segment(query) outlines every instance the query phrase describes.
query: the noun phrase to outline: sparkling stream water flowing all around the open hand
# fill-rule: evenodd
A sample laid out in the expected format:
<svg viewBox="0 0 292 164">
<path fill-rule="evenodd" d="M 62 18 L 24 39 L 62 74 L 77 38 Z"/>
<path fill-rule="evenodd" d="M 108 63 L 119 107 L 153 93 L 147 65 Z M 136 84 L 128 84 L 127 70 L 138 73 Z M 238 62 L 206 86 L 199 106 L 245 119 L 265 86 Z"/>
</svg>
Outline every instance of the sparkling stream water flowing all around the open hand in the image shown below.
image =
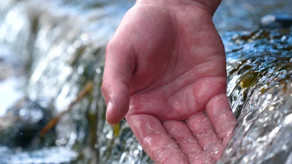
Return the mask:
<svg viewBox="0 0 292 164">
<path fill-rule="evenodd" d="M 134 1 L 0 1 L 0 164 L 152 164 L 125 121 L 105 122 L 100 91 L 105 46 Z M 214 16 L 238 119 L 218 164 L 292 163 L 292 31 L 258 29 L 277 13 L 292 1 L 223 0 Z"/>
</svg>

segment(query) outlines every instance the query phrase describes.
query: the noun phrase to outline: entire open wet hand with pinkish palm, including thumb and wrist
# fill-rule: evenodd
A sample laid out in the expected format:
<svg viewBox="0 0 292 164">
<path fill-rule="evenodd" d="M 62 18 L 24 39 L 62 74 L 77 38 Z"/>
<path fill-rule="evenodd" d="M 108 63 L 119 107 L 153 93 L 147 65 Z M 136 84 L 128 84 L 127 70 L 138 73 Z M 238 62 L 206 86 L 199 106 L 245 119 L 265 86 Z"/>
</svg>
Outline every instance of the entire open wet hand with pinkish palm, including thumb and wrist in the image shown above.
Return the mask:
<svg viewBox="0 0 292 164">
<path fill-rule="evenodd" d="M 237 123 L 212 16 L 219 0 L 138 0 L 106 50 L 106 118 L 157 164 L 214 164 Z"/>
</svg>

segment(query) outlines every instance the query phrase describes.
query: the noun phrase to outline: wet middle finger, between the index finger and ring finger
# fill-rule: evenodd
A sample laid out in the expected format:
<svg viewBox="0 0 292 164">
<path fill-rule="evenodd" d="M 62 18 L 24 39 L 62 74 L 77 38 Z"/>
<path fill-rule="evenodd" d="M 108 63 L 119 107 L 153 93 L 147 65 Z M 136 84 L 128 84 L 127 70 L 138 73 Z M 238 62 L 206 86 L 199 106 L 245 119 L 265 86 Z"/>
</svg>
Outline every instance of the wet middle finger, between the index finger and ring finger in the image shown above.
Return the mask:
<svg viewBox="0 0 292 164">
<path fill-rule="evenodd" d="M 167 121 L 164 128 L 174 137 L 183 154 L 187 156 L 190 164 L 213 164 L 213 159 L 202 151 L 197 139 L 183 121 Z"/>
</svg>

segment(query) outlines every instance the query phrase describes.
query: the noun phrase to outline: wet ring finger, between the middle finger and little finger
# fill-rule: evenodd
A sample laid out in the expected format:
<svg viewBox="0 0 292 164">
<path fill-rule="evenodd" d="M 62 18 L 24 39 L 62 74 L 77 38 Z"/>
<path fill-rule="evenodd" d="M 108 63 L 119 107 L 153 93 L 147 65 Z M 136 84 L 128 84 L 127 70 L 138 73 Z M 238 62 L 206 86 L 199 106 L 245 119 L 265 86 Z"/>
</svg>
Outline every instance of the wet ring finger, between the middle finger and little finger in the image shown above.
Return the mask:
<svg viewBox="0 0 292 164">
<path fill-rule="evenodd" d="M 224 147 L 204 112 L 197 112 L 190 117 L 186 121 L 186 125 L 192 132 L 193 136 L 198 139 L 201 148 L 215 161 L 219 160 Z"/>
</svg>

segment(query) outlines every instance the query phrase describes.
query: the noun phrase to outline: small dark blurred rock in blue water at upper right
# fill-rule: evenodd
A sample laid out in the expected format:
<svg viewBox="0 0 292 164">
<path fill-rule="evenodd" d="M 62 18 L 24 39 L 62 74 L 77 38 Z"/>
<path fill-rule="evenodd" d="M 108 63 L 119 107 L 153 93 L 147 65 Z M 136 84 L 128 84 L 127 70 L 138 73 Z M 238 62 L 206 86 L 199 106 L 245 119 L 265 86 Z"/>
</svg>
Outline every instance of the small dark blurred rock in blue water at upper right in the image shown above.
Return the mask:
<svg viewBox="0 0 292 164">
<path fill-rule="evenodd" d="M 292 15 L 275 14 L 266 15 L 260 19 L 260 28 L 290 28 L 292 27 Z"/>
</svg>

